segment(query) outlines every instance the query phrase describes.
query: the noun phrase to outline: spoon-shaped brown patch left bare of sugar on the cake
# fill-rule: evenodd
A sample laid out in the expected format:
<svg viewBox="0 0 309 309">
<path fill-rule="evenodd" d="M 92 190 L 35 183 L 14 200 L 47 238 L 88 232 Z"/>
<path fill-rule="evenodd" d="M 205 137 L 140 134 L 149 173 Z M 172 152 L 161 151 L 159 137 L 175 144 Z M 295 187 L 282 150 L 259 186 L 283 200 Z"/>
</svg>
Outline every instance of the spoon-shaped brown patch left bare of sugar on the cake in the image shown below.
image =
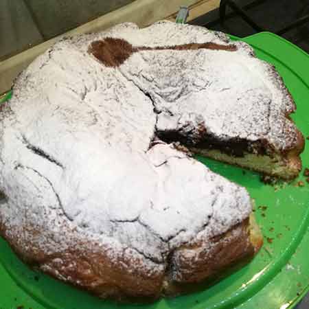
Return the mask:
<svg viewBox="0 0 309 309">
<path fill-rule="evenodd" d="M 236 45 L 220 45 L 216 43 L 191 43 L 183 45 L 174 45 L 166 47 L 133 47 L 128 41 L 122 38 L 104 38 L 104 40 L 93 41 L 89 45 L 88 52 L 100 60 L 106 67 L 118 67 L 128 59 L 133 53 L 143 50 L 196 50 L 196 49 L 214 49 L 235 52 Z"/>
</svg>

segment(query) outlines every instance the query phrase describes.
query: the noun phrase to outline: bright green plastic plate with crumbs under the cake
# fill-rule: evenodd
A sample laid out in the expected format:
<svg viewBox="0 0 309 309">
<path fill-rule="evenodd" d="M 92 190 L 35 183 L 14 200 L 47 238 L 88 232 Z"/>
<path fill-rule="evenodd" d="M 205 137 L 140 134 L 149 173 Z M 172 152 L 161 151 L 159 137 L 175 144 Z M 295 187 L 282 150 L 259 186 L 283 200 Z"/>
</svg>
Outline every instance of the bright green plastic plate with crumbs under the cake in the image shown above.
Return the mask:
<svg viewBox="0 0 309 309">
<path fill-rule="evenodd" d="M 233 38 L 236 39 L 236 38 Z M 271 33 L 244 38 L 257 56 L 273 63 L 295 98 L 293 119 L 309 136 L 309 56 Z M 307 141 L 308 144 L 308 141 Z M 254 172 L 199 158 L 211 170 L 244 185 L 255 198 L 264 247 L 255 259 L 207 290 L 150 305 L 124 305 L 96 299 L 71 286 L 36 273 L 12 253 L 0 239 L 0 308 L 28 309 L 286 309 L 295 306 L 308 291 L 309 280 L 309 183 L 305 177 L 290 184 L 264 185 Z M 309 147 L 301 155 L 309 167 Z M 304 186 L 297 186 L 303 181 Z"/>
</svg>

